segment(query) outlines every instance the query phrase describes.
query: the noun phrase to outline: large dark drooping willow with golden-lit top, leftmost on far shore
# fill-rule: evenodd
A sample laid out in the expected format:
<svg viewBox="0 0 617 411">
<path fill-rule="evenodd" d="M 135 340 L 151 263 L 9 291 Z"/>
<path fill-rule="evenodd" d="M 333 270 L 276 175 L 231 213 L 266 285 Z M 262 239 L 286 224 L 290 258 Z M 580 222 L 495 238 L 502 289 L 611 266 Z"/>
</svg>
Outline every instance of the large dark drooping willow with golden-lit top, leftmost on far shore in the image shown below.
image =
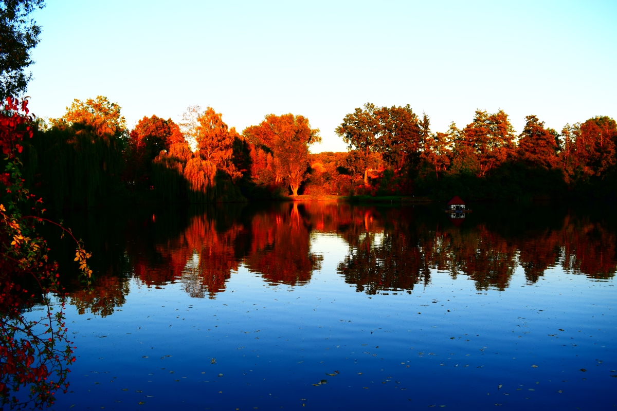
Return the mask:
<svg viewBox="0 0 617 411">
<path fill-rule="evenodd" d="M 33 189 L 56 209 L 90 208 L 118 197 L 125 142 L 126 121 L 116 103 L 102 96 L 74 100 L 62 118 L 30 140 Z"/>
</svg>

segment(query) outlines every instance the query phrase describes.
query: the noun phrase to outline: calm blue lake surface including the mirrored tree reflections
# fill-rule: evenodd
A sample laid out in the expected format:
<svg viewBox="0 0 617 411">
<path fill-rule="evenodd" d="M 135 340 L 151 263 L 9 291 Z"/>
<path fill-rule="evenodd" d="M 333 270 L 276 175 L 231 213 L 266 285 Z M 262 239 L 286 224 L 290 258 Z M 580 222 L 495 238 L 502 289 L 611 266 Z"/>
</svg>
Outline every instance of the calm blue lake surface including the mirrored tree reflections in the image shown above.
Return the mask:
<svg viewBox="0 0 617 411">
<path fill-rule="evenodd" d="M 615 409 L 611 208 L 473 208 L 74 216 L 54 409 Z"/>
</svg>

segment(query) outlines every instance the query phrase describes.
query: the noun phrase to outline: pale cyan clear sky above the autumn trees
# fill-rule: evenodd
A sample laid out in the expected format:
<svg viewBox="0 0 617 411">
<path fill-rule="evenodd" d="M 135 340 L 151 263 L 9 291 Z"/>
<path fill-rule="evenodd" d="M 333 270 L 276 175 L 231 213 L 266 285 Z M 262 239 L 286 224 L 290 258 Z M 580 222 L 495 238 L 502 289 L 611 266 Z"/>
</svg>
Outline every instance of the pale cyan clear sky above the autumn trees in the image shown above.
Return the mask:
<svg viewBox="0 0 617 411">
<path fill-rule="evenodd" d="M 238 131 L 269 113 L 336 126 L 366 102 L 409 104 L 433 131 L 503 109 L 558 131 L 617 117 L 617 1 L 48 0 L 30 108 L 118 102 L 128 126 L 213 107 Z"/>
</svg>

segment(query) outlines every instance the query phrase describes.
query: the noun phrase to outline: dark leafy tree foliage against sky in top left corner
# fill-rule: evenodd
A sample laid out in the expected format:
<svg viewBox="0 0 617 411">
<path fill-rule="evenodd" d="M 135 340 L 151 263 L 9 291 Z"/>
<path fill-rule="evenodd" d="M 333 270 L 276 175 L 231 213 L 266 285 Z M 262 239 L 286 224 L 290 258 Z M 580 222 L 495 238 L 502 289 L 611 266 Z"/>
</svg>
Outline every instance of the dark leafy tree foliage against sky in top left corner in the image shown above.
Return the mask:
<svg viewBox="0 0 617 411">
<path fill-rule="evenodd" d="M 31 12 L 45 7 L 44 0 L 4 0 L 0 4 L 0 98 L 26 91 L 32 73 L 31 50 L 39 43 L 41 26 Z"/>
</svg>

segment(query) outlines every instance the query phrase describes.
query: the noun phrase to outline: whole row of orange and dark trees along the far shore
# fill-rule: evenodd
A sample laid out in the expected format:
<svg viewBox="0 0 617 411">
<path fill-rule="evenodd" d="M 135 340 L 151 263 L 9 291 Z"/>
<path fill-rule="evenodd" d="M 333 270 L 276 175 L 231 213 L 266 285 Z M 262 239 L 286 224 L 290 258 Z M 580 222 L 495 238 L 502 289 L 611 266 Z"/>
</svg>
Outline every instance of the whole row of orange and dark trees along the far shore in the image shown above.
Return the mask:
<svg viewBox="0 0 617 411">
<path fill-rule="evenodd" d="M 303 193 L 562 198 L 611 197 L 617 187 L 617 124 L 608 116 L 557 132 L 530 115 L 517 134 L 503 110 L 476 110 L 464 128 L 433 132 L 429 116 L 409 105 L 367 103 L 336 134 L 347 152 L 312 154 L 320 131 L 305 116 L 270 114 L 240 133 L 199 106 L 178 123 L 144 116 L 128 130 L 119 105 L 98 96 L 39 121 L 23 161 L 28 181 L 69 208 L 131 195 L 185 203 Z"/>
</svg>

